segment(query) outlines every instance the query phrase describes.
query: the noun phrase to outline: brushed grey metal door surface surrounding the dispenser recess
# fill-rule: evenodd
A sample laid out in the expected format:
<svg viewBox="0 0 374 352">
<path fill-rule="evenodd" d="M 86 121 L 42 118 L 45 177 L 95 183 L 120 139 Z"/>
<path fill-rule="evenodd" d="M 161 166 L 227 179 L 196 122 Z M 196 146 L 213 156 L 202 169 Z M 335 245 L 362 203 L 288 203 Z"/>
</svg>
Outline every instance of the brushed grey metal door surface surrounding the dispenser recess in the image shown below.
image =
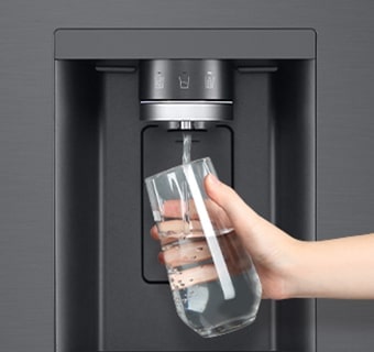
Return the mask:
<svg viewBox="0 0 374 352">
<path fill-rule="evenodd" d="M 374 3 L 365 0 L 2 1 L 1 349 L 54 350 L 54 31 L 61 28 L 152 30 L 166 25 L 239 31 L 270 26 L 315 29 L 318 37 L 316 226 L 318 238 L 328 239 L 374 229 L 373 11 Z M 205 42 L 202 38 L 198 42 L 204 53 Z M 118 58 L 127 53 L 125 47 L 95 34 L 91 43 L 92 56 L 100 55 L 100 47 L 106 45 Z M 226 43 L 231 45 L 230 41 Z M 304 43 L 304 38 L 297 40 L 289 47 L 297 50 Z M 79 42 L 75 46 L 76 57 L 88 44 Z M 160 56 L 164 44 L 160 46 Z M 265 44 L 249 47 L 241 43 L 245 55 L 249 51 L 255 55 L 258 48 L 267 47 Z M 64 45 L 72 45 L 70 40 Z M 148 54 L 141 44 L 139 50 L 145 56 Z M 55 51 L 64 58 L 64 47 Z M 226 53 L 223 46 L 221 53 Z M 371 301 L 318 300 L 316 310 L 318 352 L 372 350 Z"/>
</svg>

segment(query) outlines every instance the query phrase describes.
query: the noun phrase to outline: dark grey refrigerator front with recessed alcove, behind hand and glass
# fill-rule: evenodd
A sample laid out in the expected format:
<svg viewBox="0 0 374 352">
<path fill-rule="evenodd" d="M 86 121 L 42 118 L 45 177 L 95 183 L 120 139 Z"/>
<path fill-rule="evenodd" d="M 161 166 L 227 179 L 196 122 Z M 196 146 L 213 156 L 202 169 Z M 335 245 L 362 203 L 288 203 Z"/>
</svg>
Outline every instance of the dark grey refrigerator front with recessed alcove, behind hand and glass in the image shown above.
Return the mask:
<svg viewBox="0 0 374 352">
<path fill-rule="evenodd" d="M 195 131 L 196 155 L 301 240 L 370 233 L 373 11 L 0 3 L 0 350 L 371 351 L 370 300 L 264 300 L 250 328 L 209 340 L 179 321 L 143 178 L 177 162 L 180 136 L 140 118 L 139 82 L 145 59 L 229 61 L 232 122 Z"/>
</svg>

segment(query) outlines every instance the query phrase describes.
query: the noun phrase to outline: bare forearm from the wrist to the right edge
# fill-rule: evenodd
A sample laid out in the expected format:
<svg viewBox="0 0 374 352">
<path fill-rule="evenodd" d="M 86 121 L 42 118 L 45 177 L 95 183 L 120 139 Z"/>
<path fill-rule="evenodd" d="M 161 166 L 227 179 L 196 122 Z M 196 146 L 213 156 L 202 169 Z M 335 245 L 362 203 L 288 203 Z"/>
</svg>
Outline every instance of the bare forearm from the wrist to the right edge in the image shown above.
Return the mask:
<svg viewBox="0 0 374 352">
<path fill-rule="evenodd" d="M 300 242 L 290 297 L 373 299 L 374 233 Z"/>
</svg>

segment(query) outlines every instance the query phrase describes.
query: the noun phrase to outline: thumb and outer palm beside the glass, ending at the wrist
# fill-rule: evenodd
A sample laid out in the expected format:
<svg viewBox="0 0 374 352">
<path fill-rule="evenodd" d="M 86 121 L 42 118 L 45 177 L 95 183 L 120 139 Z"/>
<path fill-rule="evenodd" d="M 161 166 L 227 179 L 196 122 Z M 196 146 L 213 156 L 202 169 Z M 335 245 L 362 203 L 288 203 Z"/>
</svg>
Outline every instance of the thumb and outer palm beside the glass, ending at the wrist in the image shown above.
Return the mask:
<svg viewBox="0 0 374 352">
<path fill-rule="evenodd" d="M 210 199 L 226 212 L 251 255 L 263 287 L 263 298 L 289 298 L 294 293 L 293 273 L 301 242 L 258 216 L 215 176 L 206 177 L 205 187 Z"/>
</svg>

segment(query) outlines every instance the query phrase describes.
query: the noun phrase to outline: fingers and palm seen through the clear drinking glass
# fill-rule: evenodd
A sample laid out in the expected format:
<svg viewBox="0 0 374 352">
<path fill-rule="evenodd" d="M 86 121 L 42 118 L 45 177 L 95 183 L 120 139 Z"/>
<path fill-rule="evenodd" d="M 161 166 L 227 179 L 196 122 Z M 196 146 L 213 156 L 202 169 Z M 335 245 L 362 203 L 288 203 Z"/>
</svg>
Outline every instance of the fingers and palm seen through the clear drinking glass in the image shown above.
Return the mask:
<svg viewBox="0 0 374 352">
<path fill-rule="evenodd" d="M 213 230 L 219 234 L 215 240 L 230 275 L 249 271 L 251 260 L 223 209 L 210 199 L 205 200 L 205 207 Z M 211 242 L 207 241 L 195 202 L 167 200 L 163 204 L 163 221 L 157 222 L 151 233 L 161 241 L 160 260 L 168 270 L 172 288 L 219 279 L 213 264 L 217 253 L 216 257 L 211 253 Z"/>
</svg>

